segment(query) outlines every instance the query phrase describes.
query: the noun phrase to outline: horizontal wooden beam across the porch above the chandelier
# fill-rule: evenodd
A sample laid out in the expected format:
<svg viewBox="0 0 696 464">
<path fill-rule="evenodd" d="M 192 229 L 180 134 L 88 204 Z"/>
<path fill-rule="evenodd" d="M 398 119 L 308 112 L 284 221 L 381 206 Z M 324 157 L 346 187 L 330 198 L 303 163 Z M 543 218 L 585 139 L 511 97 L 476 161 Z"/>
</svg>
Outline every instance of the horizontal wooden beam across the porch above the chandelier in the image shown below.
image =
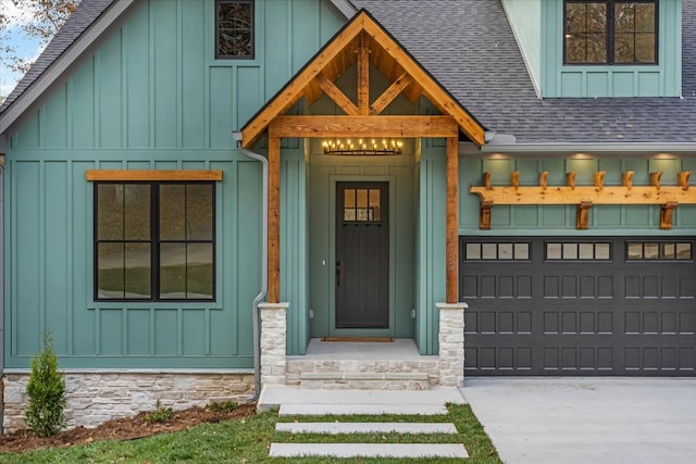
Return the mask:
<svg viewBox="0 0 696 464">
<path fill-rule="evenodd" d="M 448 138 L 458 134 L 450 116 L 277 116 L 269 137 Z"/>
</svg>

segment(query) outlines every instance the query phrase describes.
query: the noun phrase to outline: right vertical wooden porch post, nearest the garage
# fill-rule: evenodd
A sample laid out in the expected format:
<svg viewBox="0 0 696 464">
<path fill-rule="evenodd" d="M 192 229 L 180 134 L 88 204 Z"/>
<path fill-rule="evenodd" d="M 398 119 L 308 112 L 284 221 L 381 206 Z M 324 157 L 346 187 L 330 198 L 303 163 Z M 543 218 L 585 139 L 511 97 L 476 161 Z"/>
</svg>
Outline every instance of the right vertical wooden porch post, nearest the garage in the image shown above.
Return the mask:
<svg viewBox="0 0 696 464">
<path fill-rule="evenodd" d="M 447 223 L 445 237 L 447 272 L 445 277 L 446 302 L 456 303 L 457 292 L 457 264 L 459 263 L 459 140 L 457 137 L 447 138 Z"/>
</svg>

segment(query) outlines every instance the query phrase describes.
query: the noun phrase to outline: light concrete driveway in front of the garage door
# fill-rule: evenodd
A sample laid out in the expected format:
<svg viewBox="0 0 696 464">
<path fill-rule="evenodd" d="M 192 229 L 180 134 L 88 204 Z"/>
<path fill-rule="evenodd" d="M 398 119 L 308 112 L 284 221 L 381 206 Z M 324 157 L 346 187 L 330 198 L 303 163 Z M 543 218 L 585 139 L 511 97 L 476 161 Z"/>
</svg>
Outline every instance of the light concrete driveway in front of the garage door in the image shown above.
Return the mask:
<svg viewBox="0 0 696 464">
<path fill-rule="evenodd" d="M 696 378 L 467 378 L 502 461 L 694 463 Z"/>
</svg>

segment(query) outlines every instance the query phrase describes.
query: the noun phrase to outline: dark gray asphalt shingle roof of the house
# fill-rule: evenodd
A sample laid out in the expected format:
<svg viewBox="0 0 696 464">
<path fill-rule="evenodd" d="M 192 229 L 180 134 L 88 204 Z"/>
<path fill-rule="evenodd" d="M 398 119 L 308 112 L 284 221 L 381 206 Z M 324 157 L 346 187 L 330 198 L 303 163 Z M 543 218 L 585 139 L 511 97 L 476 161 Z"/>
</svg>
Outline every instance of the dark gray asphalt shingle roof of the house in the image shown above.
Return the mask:
<svg viewBox="0 0 696 464">
<path fill-rule="evenodd" d="M 16 100 L 117 0 L 83 0 L 0 108 Z M 684 98 L 544 99 L 499 0 L 352 0 L 486 128 L 518 142 L 696 142 L 696 0 L 683 0 Z"/>
</svg>

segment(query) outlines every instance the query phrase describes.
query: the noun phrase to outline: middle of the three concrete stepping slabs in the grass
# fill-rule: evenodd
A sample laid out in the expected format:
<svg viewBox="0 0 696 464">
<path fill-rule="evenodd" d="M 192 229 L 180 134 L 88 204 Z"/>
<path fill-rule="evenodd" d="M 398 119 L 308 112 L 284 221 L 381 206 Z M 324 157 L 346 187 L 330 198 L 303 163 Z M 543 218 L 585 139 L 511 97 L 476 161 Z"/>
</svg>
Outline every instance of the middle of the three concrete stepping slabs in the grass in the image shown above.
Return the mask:
<svg viewBox="0 0 696 464">
<path fill-rule="evenodd" d="M 290 434 L 457 434 L 451 423 L 426 422 L 279 422 L 277 431 Z"/>
</svg>

